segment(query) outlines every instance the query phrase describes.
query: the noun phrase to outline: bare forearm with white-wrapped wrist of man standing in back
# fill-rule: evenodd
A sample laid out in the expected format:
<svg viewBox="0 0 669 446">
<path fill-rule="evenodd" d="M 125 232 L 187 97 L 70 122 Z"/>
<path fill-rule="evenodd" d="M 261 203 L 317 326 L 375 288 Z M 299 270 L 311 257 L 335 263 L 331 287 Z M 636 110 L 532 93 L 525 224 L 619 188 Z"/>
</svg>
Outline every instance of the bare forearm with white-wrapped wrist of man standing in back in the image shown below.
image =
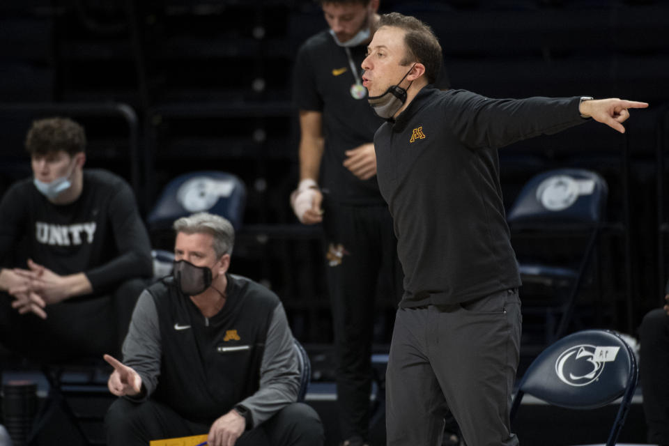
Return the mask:
<svg viewBox="0 0 669 446">
<path fill-rule="evenodd" d="M 323 114 L 300 110 L 300 184 L 291 194 L 291 206 L 295 216 L 304 224 L 323 220 L 323 194 L 318 189 L 318 171 L 321 169 L 324 146 Z"/>
</svg>

